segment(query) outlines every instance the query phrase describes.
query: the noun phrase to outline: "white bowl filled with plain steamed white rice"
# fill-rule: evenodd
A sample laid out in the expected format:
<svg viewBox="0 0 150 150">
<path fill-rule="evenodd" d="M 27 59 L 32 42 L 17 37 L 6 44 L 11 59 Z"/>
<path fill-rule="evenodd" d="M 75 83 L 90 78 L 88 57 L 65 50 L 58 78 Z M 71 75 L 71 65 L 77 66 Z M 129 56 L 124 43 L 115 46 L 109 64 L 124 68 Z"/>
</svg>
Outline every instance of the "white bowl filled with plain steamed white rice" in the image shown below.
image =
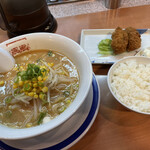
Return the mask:
<svg viewBox="0 0 150 150">
<path fill-rule="evenodd" d="M 120 104 L 132 111 L 150 114 L 150 58 L 120 59 L 110 68 L 107 83 Z"/>
</svg>

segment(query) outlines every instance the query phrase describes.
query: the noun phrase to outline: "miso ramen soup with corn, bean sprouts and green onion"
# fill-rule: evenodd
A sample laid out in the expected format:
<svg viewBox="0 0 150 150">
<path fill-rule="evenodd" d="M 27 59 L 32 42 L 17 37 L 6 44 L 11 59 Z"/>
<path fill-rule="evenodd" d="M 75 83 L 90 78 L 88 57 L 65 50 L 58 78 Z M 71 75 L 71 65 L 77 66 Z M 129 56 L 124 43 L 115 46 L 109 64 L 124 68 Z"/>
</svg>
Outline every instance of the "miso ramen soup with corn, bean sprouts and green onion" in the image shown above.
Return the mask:
<svg viewBox="0 0 150 150">
<path fill-rule="evenodd" d="M 61 53 L 33 50 L 15 57 L 14 68 L 0 74 L 0 123 L 29 128 L 57 117 L 75 99 L 79 75 Z"/>
</svg>

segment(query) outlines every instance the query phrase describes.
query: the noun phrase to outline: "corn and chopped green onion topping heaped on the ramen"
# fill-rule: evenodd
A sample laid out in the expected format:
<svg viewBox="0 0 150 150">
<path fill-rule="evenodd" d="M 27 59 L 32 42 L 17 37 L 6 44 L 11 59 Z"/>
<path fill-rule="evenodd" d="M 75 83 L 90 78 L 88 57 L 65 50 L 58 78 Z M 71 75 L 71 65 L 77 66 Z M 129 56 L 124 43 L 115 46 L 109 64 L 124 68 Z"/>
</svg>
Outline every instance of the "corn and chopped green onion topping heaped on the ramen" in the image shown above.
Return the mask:
<svg viewBox="0 0 150 150">
<path fill-rule="evenodd" d="M 47 104 L 45 93 L 48 91 L 48 87 L 44 85 L 44 81 L 47 79 L 48 73 L 49 69 L 46 66 L 28 64 L 26 70 L 19 71 L 14 79 L 14 96 L 23 93 L 36 99 L 39 98 L 43 105 Z"/>
</svg>

